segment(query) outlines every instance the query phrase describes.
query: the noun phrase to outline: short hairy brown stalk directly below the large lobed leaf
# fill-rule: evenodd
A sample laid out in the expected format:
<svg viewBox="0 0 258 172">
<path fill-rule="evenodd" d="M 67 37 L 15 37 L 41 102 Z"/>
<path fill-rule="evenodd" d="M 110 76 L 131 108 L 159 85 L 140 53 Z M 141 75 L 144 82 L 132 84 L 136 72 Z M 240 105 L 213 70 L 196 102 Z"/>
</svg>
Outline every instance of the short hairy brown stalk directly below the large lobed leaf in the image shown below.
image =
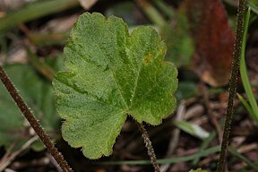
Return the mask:
<svg viewBox="0 0 258 172">
<path fill-rule="evenodd" d="M 152 163 L 152 166 L 154 167 L 155 169 L 155 172 L 160 172 L 160 169 L 159 169 L 159 164 L 158 164 L 158 161 L 156 159 L 156 155 L 155 155 L 155 152 L 151 146 L 151 142 L 150 142 L 150 137 L 146 131 L 146 129 L 144 128 L 144 125 L 136 122 L 139 130 L 141 131 L 142 133 L 142 138 L 145 142 L 145 147 L 147 148 L 148 150 L 148 155 L 150 156 L 150 160 L 151 160 L 151 163 Z"/>
</svg>

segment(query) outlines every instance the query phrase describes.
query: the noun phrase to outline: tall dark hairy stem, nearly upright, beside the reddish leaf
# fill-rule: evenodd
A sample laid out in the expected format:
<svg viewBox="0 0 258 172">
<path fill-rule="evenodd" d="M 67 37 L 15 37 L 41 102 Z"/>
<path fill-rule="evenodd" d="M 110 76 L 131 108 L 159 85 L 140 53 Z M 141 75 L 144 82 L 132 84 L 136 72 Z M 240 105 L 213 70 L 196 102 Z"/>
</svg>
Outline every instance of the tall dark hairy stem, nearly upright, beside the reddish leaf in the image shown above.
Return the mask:
<svg viewBox="0 0 258 172">
<path fill-rule="evenodd" d="M 228 151 L 228 138 L 231 132 L 231 121 L 233 117 L 234 99 L 236 97 L 236 82 L 240 62 L 241 44 L 243 39 L 244 30 L 244 15 L 245 15 L 245 0 L 239 0 L 237 9 L 237 22 L 236 22 L 236 40 L 234 45 L 233 62 L 231 69 L 231 76 L 229 82 L 229 96 L 226 120 L 224 123 L 224 133 L 221 142 L 219 153 L 218 172 L 224 172 L 225 161 Z"/>
</svg>

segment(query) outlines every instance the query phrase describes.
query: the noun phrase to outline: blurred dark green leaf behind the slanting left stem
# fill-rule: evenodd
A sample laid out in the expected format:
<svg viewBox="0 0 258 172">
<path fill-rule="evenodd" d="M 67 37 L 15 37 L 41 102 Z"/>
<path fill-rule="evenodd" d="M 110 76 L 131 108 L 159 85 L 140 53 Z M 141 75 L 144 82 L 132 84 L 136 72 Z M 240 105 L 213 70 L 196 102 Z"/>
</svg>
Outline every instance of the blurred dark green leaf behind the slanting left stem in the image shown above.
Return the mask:
<svg viewBox="0 0 258 172">
<path fill-rule="evenodd" d="M 40 124 L 48 133 L 53 133 L 58 128 L 59 117 L 56 116 L 51 84 L 44 82 L 30 65 L 5 65 L 4 69 L 22 98 L 38 117 Z M 0 146 L 9 147 L 16 142 L 18 149 L 31 137 L 28 131 L 29 124 L 3 84 L 0 84 L 0 98 Z M 42 149 L 44 147 L 41 143 Z M 40 150 L 39 146 L 37 150 Z"/>
</svg>

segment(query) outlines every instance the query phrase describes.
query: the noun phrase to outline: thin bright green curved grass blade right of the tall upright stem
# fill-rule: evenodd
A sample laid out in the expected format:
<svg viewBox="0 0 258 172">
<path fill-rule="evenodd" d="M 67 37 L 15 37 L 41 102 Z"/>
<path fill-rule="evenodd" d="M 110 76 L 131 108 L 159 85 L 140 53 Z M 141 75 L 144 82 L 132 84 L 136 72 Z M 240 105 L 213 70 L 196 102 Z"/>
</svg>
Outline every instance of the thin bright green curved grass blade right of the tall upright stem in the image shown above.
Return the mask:
<svg viewBox="0 0 258 172">
<path fill-rule="evenodd" d="M 251 84 L 249 82 L 250 80 L 249 80 L 249 76 L 248 76 L 246 64 L 245 64 L 245 45 L 246 45 L 246 39 L 247 39 L 250 13 L 251 13 L 251 8 L 248 8 L 248 11 L 245 16 L 244 37 L 242 42 L 242 51 L 241 51 L 241 58 L 240 58 L 240 74 L 241 74 L 241 79 L 244 85 L 245 92 L 247 94 L 247 98 L 252 107 L 252 111 L 254 112 L 254 116 L 253 116 L 254 120 L 258 123 L 258 106 L 254 98 L 254 93 L 252 91 Z"/>
</svg>

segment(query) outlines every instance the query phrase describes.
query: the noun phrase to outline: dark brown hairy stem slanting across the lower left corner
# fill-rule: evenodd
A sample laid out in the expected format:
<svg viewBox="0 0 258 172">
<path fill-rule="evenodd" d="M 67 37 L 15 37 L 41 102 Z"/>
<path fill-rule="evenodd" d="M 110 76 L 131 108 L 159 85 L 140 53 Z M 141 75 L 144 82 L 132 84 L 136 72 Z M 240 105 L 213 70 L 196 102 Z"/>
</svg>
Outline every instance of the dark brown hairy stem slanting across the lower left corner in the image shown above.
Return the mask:
<svg viewBox="0 0 258 172">
<path fill-rule="evenodd" d="M 22 111 L 22 114 L 29 121 L 31 127 L 35 130 L 35 132 L 39 135 L 40 140 L 45 144 L 47 150 L 51 153 L 51 155 L 56 159 L 56 162 L 59 164 L 60 168 L 64 170 L 64 172 L 72 172 L 73 170 L 69 167 L 67 162 L 64 160 L 62 154 L 56 149 L 53 142 L 51 142 L 50 137 L 44 131 L 44 129 L 39 125 L 38 120 L 30 111 L 30 108 L 23 101 L 22 97 L 19 95 L 18 91 L 14 88 L 13 83 L 10 81 L 2 65 L 0 64 L 0 78 L 4 83 L 6 90 L 10 93 L 13 100 L 17 104 L 17 106 Z"/>
</svg>

